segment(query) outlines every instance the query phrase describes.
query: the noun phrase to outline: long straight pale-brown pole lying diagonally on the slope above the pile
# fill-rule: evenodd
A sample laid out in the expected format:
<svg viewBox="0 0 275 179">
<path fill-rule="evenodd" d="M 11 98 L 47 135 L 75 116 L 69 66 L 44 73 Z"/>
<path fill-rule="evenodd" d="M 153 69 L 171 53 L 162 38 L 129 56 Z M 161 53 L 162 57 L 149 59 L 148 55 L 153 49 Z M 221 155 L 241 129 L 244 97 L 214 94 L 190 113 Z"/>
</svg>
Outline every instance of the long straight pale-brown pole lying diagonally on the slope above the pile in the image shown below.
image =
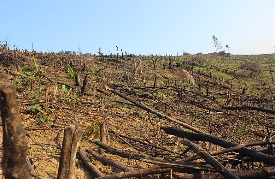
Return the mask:
<svg viewBox="0 0 275 179">
<path fill-rule="evenodd" d="M 122 97 L 123 99 L 126 99 L 126 100 L 128 100 L 128 101 L 134 103 L 136 106 L 140 107 L 141 109 L 146 110 L 147 112 L 156 114 L 157 116 L 159 116 L 159 117 L 161 117 L 161 118 L 167 119 L 167 120 L 172 121 L 172 122 L 175 122 L 175 123 L 177 123 L 177 124 L 180 124 L 181 126 L 187 128 L 187 129 L 190 129 L 191 131 L 200 132 L 200 133 L 206 134 L 205 132 L 203 132 L 203 131 L 201 131 L 201 130 L 199 130 L 199 129 L 193 127 L 193 126 L 191 126 L 190 124 L 187 124 L 187 123 L 185 123 L 185 122 L 182 122 L 182 121 L 179 121 L 179 120 L 174 119 L 174 118 L 172 118 L 172 117 L 169 117 L 169 116 L 167 116 L 167 115 L 164 115 L 164 114 L 162 114 L 162 113 L 160 113 L 160 112 L 158 112 L 158 111 L 156 111 L 156 110 L 154 110 L 154 109 L 148 107 L 148 106 L 147 106 L 146 104 L 144 104 L 143 102 L 138 102 L 138 101 L 136 101 L 135 99 L 133 99 L 133 98 L 131 98 L 131 97 L 125 96 L 125 95 L 123 95 L 121 92 L 118 92 L 118 91 L 115 90 L 115 89 L 112 89 L 112 88 L 110 88 L 110 87 L 108 87 L 108 86 L 105 86 L 105 89 L 111 91 L 112 93 L 118 95 L 119 97 Z"/>
</svg>

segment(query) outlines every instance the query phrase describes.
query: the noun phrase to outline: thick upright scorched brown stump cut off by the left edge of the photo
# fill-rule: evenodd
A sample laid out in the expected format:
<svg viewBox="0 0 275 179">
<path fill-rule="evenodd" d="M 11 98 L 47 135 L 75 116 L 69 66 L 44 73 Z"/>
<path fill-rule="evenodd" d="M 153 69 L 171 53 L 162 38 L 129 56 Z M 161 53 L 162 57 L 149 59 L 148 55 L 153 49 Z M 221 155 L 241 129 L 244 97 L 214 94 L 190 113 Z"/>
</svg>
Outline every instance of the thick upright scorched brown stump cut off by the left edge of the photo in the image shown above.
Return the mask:
<svg viewBox="0 0 275 179">
<path fill-rule="evenodd" d="M 21 125 L 14 88 L 0 74 L 0 110 L 3 125 L 2 170 L 6 179 L 29 179 L 26 132 Z"/>
</svg>

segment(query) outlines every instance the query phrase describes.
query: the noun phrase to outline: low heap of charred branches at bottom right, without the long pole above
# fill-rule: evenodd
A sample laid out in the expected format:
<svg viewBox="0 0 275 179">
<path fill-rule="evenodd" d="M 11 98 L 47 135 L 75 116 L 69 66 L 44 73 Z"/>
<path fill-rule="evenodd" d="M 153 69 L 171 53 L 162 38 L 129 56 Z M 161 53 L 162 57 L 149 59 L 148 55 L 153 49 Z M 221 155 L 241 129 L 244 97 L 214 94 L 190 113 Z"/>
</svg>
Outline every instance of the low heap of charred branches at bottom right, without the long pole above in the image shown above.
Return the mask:
<svg viewBox="0 0 275 179">
<path fill-rule="evenodd" d="M 85 150 L 80 148 L 79 155 L 87 168 L 97 176 L 96 179 L 120 179 L 130 177 L 145 177 L 153 174 L 169 174 L 177 179 L 254 179 L 267 178 L 275 175 L 275 157 L 269 155 L 274 140 L 249 142 L 240 145 L 204 133 L 192 133 L 172 127 L 161 127 L 167 134 L 182 138 L 182 143 L 195 152 L 195 156 L 185 156 L 178 160 L 160 160 L 140 154 L 132 154 L 121 149 L 112 148 L 100 141 L 90 140 L 99 148 L 113 155 L 128 160 L 139 160 L 154 164 L 147 169 L 134 170 L 110 158 L 101 156 L 98 152 L 86 151 L 104 165 L 111 165 L 120 173 L 104 176 L 87 158 Z M 201 149 L 191 141 L 208 141 L 225 149 L 209 152 Z M 254 148 L 252 148 L 254 146 Z M 156 147 L 156 146 L 151 146 Z M 202 160 L 197 161 L 198 159 Z M 218 159 L 218 160 L 217 160 Z M 269 166 L 269 167 L 267 167 Z"/>
</svg>

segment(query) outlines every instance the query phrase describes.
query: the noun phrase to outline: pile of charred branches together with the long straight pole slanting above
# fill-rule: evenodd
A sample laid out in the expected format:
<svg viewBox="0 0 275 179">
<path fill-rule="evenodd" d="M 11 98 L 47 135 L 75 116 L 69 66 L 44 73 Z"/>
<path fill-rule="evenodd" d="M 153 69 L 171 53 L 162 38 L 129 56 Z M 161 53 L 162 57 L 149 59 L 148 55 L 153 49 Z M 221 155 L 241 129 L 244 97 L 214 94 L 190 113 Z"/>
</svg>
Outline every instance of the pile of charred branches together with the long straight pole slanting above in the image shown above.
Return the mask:
<svg viewBox="0 0 275 179">
<path fill-rule="evenodd" d="M 273 150 L 275 140 L 273 140 L 273 135 L 269 134 L 269 137 L 263 141 L 235 144 L 205 133 L 170 116 L 163 115 L 144 103 L 135 101 L 133 98 L 125 96 L 107 86 L 105 86 L 105 89 L 127 99 L 147 112 L 154 113 L 161 118 L 179 124 L 182 129 L 185 128 L 186 130 L 175 127 L 160 127 L 166 134 L 181 139 L 178 141 L 185 145 L 187 149 L 182 153 L 177 153 L 164 147 L 153 145 L 150 142 L 123 136 L 113 131 L 112 134 L 119 136 L 125 143 L 138 143 L 139 148 L 146 148 L 149 146 L 158 152 L 150 156 L 141 155 L 127 150 L 125 151 L 125 149 L 115 149 L 103 142 L 90 139 L 89 141 L 96 144 L 100 149 L 128 159 L 128 164 L 129 160 L 135 160 L 148 163 L 148 166 L 151 166 L 147 169 L 138 167 L 134 169 L 110 158 L 105 158 L 94 150 L 86 149 L 86 152 L 99 160 L 103 165 L 111 165 L 121 171 L 116 174 L 104 176 L 87 158 L 85 149 L 80 148 L 79 156 L 81 160 L 86 164 L 87 168 L 96 175 L 96 179 L 120 179 L 130 177 L 150 178 L 150 176 L 154 174 L 165 175 L 165 178 L 167 178 L 167 175 L 170 175 L 171 178 L 177 179 L 259 179 L 275 176 L 275 156 Z M 125 138 L 127 141 L 131 142 L 126 142 L 126 140 L 124 140 Z M 208 150 L 206 151 L 199 147 L 197 144 L 198 141 L 209 143 Z M 220 150 L 212 152 L 213 145 L 216 145 L 217 149 Z M 192 155 L 186 155 L 187 152 L 191 152 Z M 161 155 L 164 153 L 170 154 L 170 158 Z M 158 156 L 162 156 L 162 159 Z"/>
</svg>

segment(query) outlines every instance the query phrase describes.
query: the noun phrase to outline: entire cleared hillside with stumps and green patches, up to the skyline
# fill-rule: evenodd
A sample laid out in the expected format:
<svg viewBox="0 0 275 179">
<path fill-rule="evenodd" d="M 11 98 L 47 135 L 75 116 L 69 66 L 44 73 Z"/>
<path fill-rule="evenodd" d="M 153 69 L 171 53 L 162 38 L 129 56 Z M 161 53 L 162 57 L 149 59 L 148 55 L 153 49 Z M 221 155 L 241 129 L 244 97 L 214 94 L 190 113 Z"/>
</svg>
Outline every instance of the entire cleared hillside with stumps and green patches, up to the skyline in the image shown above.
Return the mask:
<svg viewBox="0 0 275 179">
<path fill-rule="evenodd" d="M 68 64 L 73 72 L 78 70 L 79 86 L 74 79 L 67 78 L 72 75 Z M 63 131 L 70 124 L 80 125 L 83 134 L 89 134 L 94 127 L 89 137 L 83 135 L 79 145 L 104 175 L 123 171 L 103 165 L 96 159 L 97 153 L 132 170 L 166 166 L 167 161 L 195 155 L 180 137 L 161 127 L 197 130 L 235 144 L 271 141 L 275 133 L 274 72 L 275 54 L 126 57 L 0 51 L 0 73 L 16 89 L 33 179 L 57 177 Z M 82 90 L 85 76 L 87 84 Z M 96 129 L 102 122 L 106 144 L 117 149 L 115 154 L 91 142 L 93 137 L 97 138 Z M 209 142 L 202 140 L 195 144 L 209 149 Z M 223 149 L 218 145 L 211 148 L 213 152 Z M 132 160 L 119 156 L 119 151 L 132 154 Z M 147 159 L 133 160 L 139 155 Z M 226 164 L 236 155 L 219 158 Z M 196 167 L 200 162 L 203 160 Z M 250 163 L 234 165 L 252 168 Z M 265 166 L 263 162 L 255 165 Z M 201 168 L 191 173 L 206 170 Z M 209 170 L 214 171 L 211 166 Z M 157 172 L 151 178 L 168 178 L 169 173 Z M 95 178 L 79 153 L 75 174 L 77 179 Z"/>
</svg>

